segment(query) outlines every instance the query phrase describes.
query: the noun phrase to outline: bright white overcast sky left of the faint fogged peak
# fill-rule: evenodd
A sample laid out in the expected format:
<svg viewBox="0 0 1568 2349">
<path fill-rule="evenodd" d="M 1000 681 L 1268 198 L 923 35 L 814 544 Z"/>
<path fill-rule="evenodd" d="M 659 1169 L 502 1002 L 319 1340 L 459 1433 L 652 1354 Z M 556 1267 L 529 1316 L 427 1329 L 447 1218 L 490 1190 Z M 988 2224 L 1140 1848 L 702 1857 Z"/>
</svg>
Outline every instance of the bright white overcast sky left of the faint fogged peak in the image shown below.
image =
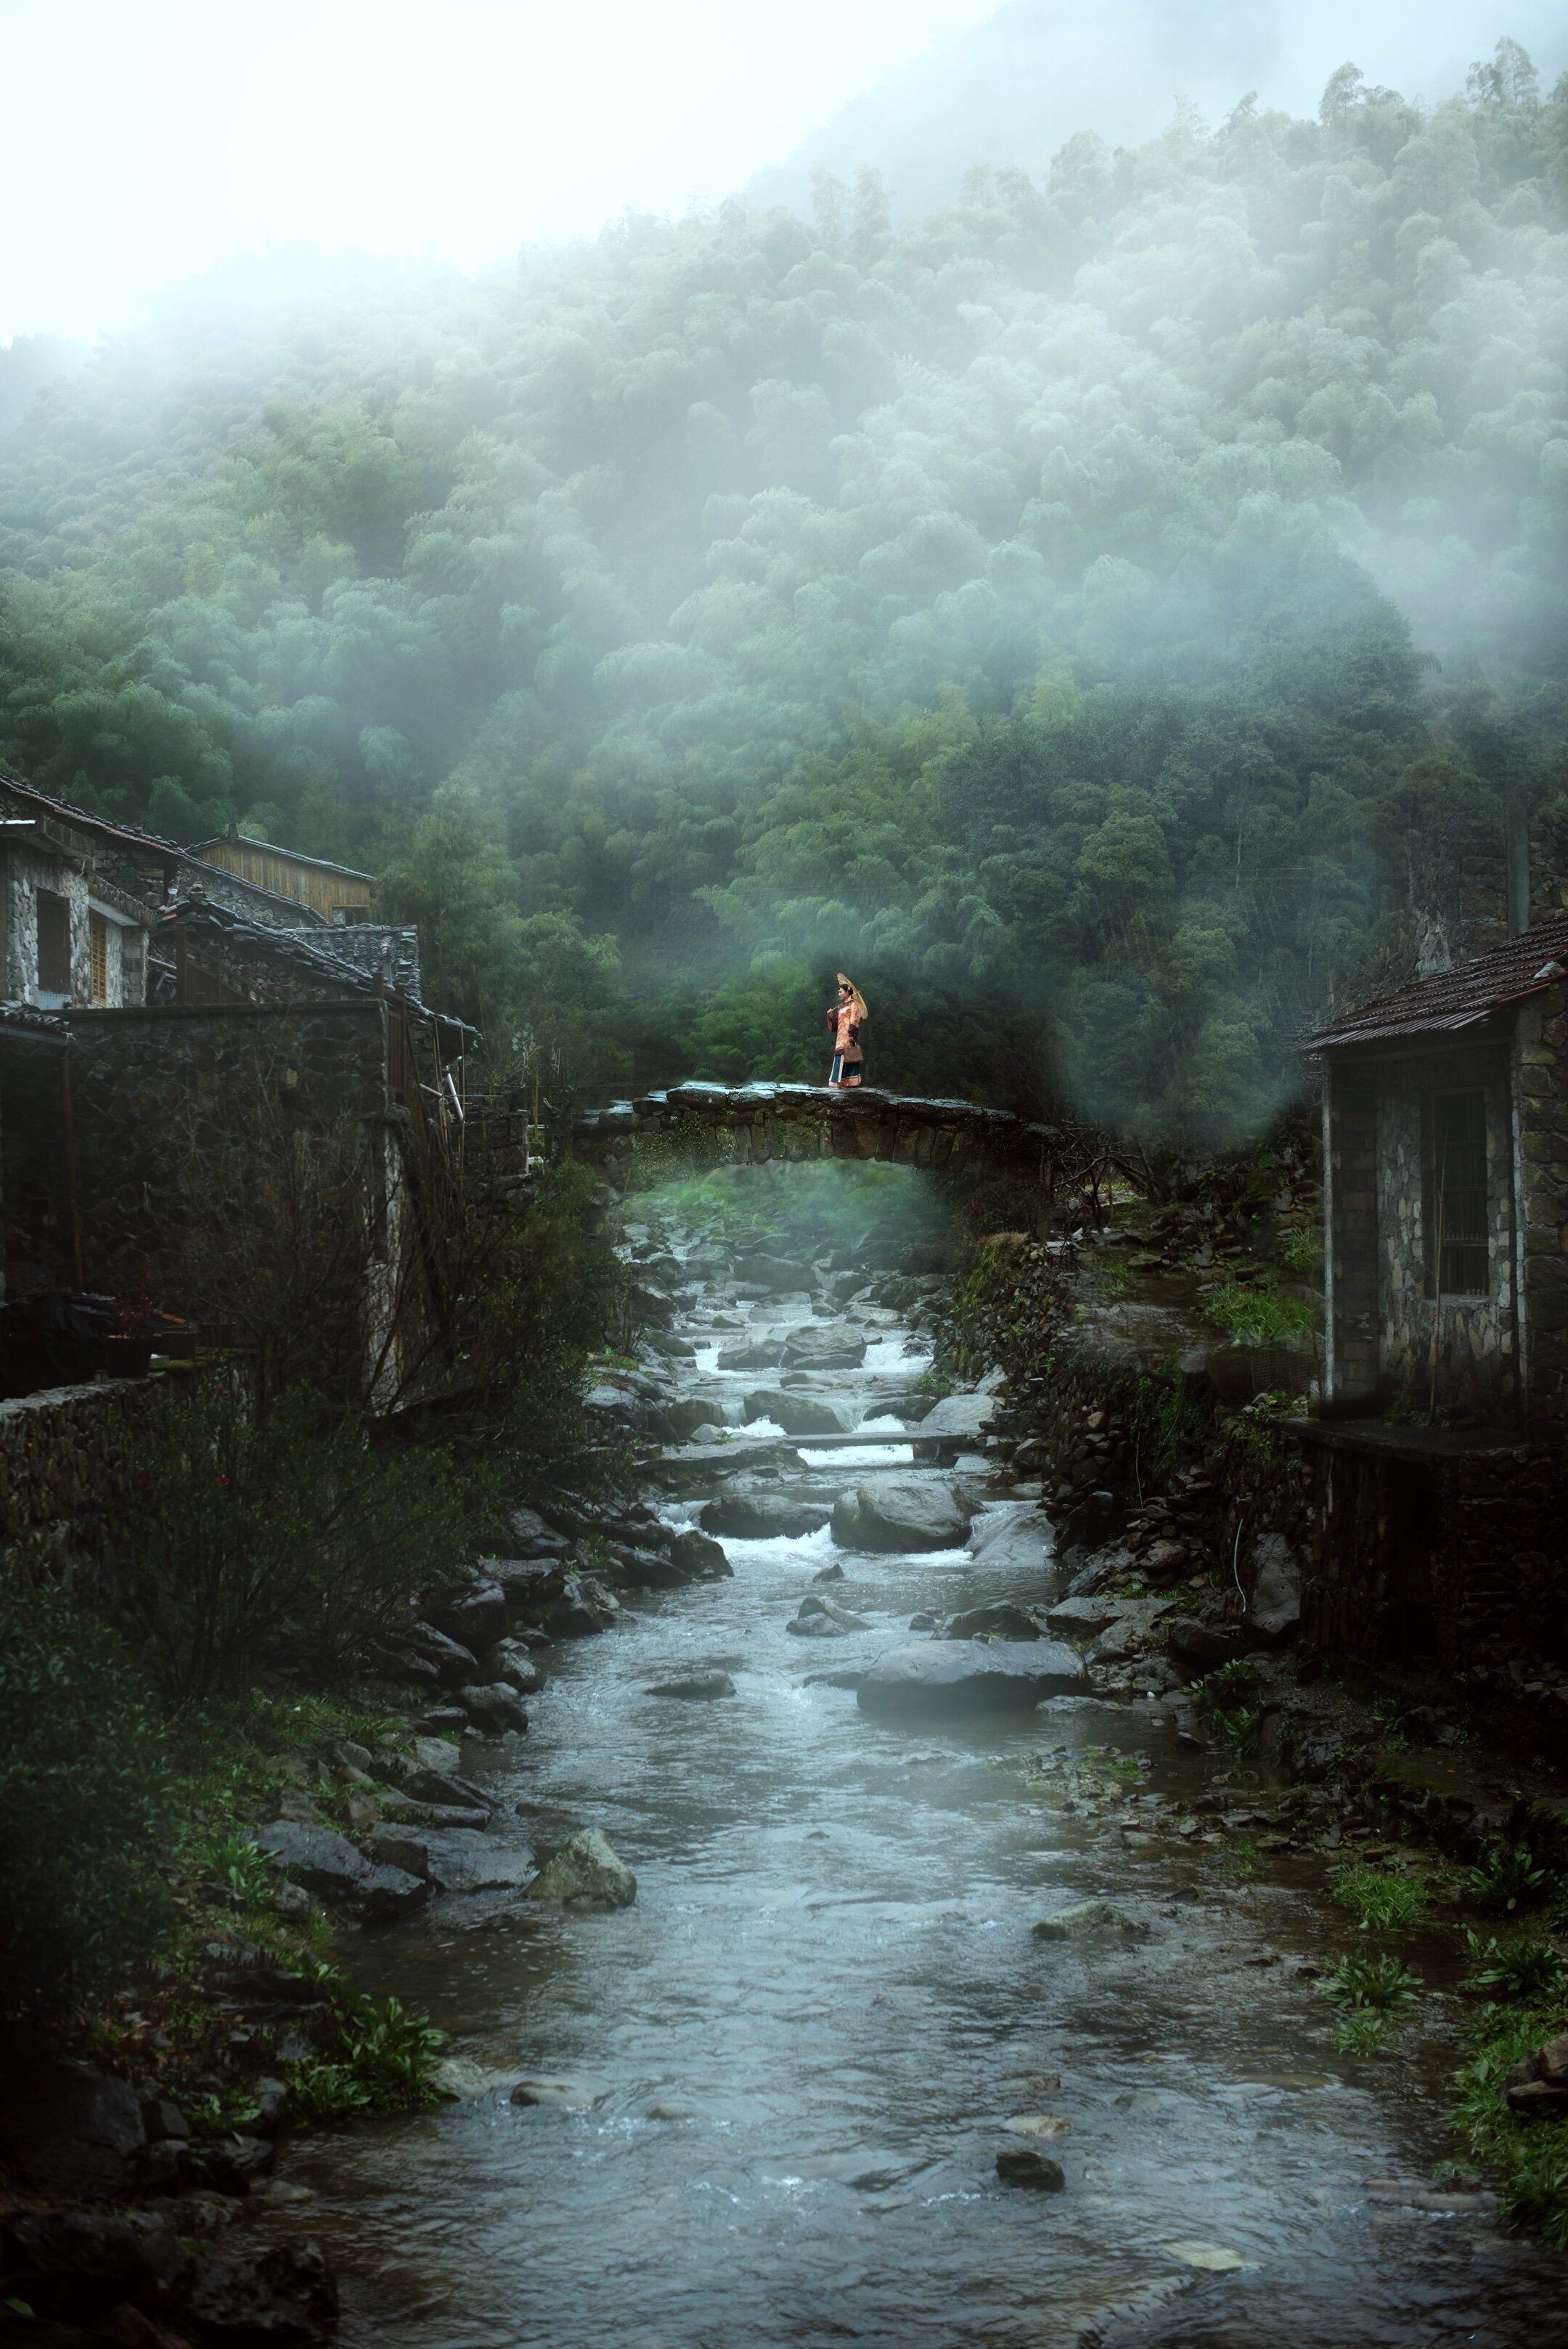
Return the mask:
<svg viewBox="0 0 1568 2349">
<path fill-rule="evenodd" d="M 994 0 L 0 0 L 0 343 L 270 244 L 465 268 L 738 188 Z"/>
</svg>

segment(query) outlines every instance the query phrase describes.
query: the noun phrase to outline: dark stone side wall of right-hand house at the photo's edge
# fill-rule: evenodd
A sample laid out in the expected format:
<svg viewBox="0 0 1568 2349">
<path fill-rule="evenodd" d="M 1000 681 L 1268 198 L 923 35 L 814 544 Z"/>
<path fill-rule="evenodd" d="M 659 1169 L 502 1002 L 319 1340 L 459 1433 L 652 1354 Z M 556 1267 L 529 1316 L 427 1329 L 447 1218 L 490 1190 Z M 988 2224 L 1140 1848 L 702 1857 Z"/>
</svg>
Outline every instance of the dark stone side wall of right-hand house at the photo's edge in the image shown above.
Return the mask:
<svg viewBox="0 0 1568 2349">
<path fill-rule="evenodd" d="M 1568 984 L 1519 1005 L 1514 1055 L 1528 1412 L 1568 1428 Z"/>
</svg>

